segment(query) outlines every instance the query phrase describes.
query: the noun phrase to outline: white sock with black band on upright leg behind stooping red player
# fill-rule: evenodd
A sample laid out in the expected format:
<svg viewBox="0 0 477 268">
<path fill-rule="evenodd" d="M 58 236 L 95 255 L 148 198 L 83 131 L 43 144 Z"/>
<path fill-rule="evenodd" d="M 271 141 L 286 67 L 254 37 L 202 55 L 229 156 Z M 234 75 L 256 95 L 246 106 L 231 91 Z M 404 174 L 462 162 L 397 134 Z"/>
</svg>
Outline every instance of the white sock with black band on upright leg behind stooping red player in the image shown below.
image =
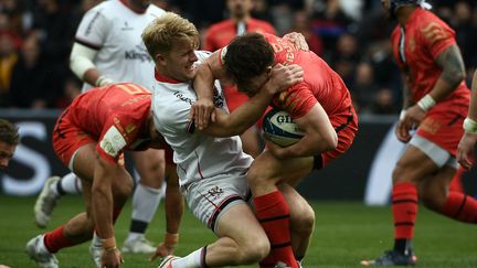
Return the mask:
<svg viewBox="0 0 477 268">
<path fill-rule="evenodd" d="M 126 240 L 132 240 L 144 236 L 147 225 L 153 215 L 162 197 L 160 189 L 153 189 L 138 183 L 132 195 L 131 228 Z"/>
</svg>

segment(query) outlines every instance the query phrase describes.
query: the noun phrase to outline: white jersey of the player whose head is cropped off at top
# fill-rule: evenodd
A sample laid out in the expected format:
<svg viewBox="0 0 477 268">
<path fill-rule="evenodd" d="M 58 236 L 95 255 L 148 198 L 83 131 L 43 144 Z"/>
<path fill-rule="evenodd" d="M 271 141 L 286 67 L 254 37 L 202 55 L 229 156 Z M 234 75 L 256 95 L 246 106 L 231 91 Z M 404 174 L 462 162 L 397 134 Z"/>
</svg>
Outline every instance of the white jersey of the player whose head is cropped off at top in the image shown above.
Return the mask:
<svg viewBox="0 0 477 268">
<path fill-rule="evenodd" d="M 104 1 L 83 17 L 75 42 L 97 51 L 93 62 L 102 75 L 150 89 L 155 83 L 155 63 L 140 35 L 163 13 L 153 4 L 145 13 L 136 13 L 119 0 Z M 91 87 L 84 83 L 83 92 Z"/>
</svg>

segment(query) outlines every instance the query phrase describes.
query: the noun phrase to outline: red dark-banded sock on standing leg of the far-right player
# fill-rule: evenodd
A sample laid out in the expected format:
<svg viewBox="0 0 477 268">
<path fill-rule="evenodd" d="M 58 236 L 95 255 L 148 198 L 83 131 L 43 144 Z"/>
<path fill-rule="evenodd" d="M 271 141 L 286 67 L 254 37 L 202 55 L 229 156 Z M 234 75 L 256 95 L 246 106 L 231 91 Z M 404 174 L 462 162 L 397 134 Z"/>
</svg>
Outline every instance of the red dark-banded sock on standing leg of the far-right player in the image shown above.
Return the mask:
<svg viewBox="0 0 477 268">
<path fill-rule="evenodd" d="M 392 213 L 394 216 L 394 238 L 412 239 L 417 214 L 417 190 L 413 183 L 403 182 L 393 186 Z"/>
</svg>

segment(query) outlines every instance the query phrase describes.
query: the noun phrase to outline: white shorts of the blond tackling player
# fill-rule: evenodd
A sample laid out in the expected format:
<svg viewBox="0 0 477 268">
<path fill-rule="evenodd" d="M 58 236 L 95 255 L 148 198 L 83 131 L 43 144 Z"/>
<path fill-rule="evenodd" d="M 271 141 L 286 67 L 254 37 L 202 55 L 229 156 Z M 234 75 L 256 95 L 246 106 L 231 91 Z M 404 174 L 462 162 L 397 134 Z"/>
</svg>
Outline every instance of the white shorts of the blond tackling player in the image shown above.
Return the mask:
<svg viewBox="0 0 477 268">
<path fill-rule="evenodd" d="M 224 174 L 197 181 L 188 185 L 183 195 L 192 214 L 213 232 L 226 210 L 247 204 L 252 197 L 246 174 Z"/>
</svg>

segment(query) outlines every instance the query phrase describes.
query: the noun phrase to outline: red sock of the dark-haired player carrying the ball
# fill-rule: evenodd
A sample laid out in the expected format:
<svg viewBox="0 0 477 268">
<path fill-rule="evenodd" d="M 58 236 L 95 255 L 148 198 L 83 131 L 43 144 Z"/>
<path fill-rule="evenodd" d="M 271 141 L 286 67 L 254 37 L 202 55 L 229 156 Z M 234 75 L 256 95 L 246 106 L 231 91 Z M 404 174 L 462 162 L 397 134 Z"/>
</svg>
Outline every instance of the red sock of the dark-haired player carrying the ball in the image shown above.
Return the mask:
<svg viewBox="0 0 477 268">
<path fill-rule="evenodd" d="M 297 268 L 292 249 L 289 207 L 283 194 L 275 191 L 254 197 L 255 213 L 271 242 L 271 254 L 261 261 L 261 267 L 275 267 L 282 261 Z"/>
</svg>

